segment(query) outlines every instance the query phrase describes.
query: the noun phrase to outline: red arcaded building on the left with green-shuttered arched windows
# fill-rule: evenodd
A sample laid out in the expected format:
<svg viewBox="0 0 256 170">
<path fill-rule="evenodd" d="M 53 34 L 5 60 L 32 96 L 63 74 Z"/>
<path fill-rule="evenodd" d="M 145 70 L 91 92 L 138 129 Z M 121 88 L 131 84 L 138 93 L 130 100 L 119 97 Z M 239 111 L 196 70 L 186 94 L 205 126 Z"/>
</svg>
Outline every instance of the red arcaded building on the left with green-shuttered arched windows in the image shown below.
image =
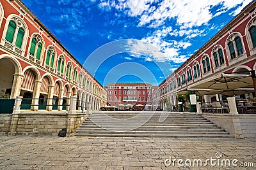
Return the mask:
<svg viewBox="0 0 256 170">
<path fill-rule="evenodd" d="M 70 96 L 92 110 L 106 104 L 102 85 L 21 1 L 0 2 L 0 37 L 1 96 L 22 96 L 31 110 L 68 110 Z"/>
</svg>

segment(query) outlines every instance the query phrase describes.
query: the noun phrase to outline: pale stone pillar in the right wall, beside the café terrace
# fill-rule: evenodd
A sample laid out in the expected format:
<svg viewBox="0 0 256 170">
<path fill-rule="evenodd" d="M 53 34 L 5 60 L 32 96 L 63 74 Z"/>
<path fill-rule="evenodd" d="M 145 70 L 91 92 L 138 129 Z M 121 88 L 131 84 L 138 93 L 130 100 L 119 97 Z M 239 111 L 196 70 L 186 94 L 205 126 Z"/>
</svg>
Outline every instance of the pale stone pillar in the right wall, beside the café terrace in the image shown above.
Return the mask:
<svg viewBox="0 0 256 170">
<path fill-rule="evenodd" d="M 235 97 L 228 97 L 228 107 L 229 107 L 229 113 L 232 118 L 232 123 L 234 125 L 234 136 L 236 138 L 244 138 L 243 136 L 243 131 L 241 128 L 241 123 L 240 123 L 240 117 L 237 112 L 236 108 L 236 100 Z"/>
</svg>

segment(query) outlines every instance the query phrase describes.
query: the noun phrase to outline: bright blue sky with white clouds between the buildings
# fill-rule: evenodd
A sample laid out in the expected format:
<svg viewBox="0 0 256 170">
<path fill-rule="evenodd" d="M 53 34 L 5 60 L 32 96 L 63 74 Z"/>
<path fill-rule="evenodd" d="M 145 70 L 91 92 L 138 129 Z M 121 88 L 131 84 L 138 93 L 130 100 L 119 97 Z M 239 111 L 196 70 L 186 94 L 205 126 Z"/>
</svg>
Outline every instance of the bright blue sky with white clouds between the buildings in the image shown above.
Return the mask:
<svg viewBox="0 0 256 170">
<path fill-rule="evenodd" d="M 22 0 L 102 84 L 161 83 L 252 0 Z"/>
</svg>

